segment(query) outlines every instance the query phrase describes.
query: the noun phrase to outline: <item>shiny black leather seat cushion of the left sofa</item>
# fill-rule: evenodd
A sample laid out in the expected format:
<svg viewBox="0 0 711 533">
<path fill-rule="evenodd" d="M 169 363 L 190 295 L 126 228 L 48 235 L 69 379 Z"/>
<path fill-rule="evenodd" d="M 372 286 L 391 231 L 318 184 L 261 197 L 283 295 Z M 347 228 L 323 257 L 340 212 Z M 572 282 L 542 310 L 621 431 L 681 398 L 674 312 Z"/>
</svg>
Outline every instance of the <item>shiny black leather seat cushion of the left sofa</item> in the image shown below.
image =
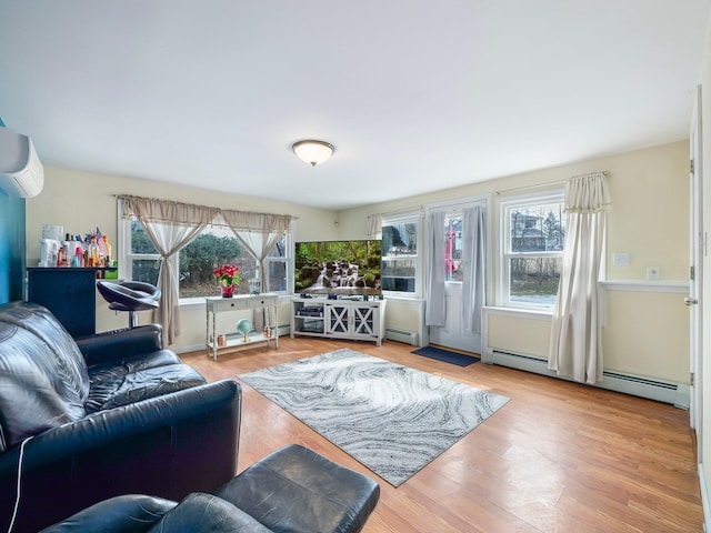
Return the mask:
<svg viewBox="0 0 711 533">
<path fill-rule="evenodd" d="M 121 374 L 106 371 L 93 374 L 84 408 L 88 413 L 118 408 L 207 383 L 187 364 L 168 364 Z"/>
</svg>

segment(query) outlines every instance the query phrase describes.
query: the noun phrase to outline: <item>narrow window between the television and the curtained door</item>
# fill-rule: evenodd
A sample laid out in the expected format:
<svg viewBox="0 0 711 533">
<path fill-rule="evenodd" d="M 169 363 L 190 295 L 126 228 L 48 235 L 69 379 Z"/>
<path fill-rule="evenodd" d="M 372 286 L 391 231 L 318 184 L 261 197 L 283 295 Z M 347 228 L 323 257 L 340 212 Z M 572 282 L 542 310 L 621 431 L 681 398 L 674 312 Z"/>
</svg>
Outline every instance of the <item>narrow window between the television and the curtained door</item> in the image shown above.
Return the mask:
<svg viewBox="0 0 711 533">
<path fill-rule="evenodd" d="M 420 294 L 420 213 L 383 218 L 380 283 L 391 294 Z"/>
</svg>

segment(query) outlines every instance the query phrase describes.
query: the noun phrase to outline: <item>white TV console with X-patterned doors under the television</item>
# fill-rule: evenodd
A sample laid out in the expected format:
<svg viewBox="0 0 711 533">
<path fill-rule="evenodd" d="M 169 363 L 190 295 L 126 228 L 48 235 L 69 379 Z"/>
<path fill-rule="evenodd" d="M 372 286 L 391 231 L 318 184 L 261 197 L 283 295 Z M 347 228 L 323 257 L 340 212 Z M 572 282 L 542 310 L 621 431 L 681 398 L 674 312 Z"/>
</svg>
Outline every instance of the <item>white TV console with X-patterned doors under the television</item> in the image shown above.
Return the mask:
<svg viewBox="0 0 711 533">
<path fill-rule="evenodd" d="M 380 345 L 385 334 L 385 301 L 294 298 L 290 325 L 292 339 L 323 336 L 374 341 Z"/>
</svg>

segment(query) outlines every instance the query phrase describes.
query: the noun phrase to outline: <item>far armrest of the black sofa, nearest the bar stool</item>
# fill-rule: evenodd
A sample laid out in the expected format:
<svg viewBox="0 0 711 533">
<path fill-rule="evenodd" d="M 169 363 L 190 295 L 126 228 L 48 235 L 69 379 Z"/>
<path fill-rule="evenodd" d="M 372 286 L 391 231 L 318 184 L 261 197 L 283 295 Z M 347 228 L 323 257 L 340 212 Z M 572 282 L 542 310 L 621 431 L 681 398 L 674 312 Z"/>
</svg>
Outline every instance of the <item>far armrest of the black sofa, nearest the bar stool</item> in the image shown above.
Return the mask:
<svg viewBox="0 0 711 533">
<path fill-rule="evenodd" d="M 121 358 L 139 355 L 163 349 L 163 329 L 160 324 L 108 331 L 77 339 L 77 345 L 87 364 L 97 364 Z"/>
</svg>

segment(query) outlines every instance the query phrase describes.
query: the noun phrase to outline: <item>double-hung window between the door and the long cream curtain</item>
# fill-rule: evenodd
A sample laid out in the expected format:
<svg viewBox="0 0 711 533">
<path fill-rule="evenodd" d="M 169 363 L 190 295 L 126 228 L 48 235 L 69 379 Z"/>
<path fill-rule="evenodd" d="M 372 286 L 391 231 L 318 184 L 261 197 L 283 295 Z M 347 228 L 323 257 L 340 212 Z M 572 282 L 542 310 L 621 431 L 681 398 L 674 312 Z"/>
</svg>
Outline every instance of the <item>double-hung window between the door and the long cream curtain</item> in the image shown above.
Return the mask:
<svg viewBox="0 0 711 533">
<path fill-rule="evenodd" d="M 563 193 L 503 200 L 499 212 L 499 304 L 552 309 L 565 243 Z"/>
</svg>

